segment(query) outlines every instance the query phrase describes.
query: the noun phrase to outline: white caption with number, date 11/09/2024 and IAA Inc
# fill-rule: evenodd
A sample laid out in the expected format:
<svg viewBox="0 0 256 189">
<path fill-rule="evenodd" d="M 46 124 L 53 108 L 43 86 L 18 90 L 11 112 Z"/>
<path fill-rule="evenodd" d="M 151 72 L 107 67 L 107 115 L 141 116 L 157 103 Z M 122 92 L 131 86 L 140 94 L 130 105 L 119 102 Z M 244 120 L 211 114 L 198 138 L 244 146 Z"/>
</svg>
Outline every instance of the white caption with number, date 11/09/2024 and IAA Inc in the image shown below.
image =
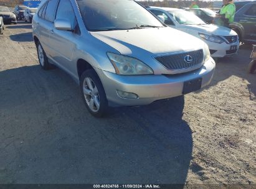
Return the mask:
<svg viewBox="0 0 256 189">
<path fill-rule="evenodd" d="M 159 185 L 93 185 L 93 188 L 161 188 Z"/>
</svg>

